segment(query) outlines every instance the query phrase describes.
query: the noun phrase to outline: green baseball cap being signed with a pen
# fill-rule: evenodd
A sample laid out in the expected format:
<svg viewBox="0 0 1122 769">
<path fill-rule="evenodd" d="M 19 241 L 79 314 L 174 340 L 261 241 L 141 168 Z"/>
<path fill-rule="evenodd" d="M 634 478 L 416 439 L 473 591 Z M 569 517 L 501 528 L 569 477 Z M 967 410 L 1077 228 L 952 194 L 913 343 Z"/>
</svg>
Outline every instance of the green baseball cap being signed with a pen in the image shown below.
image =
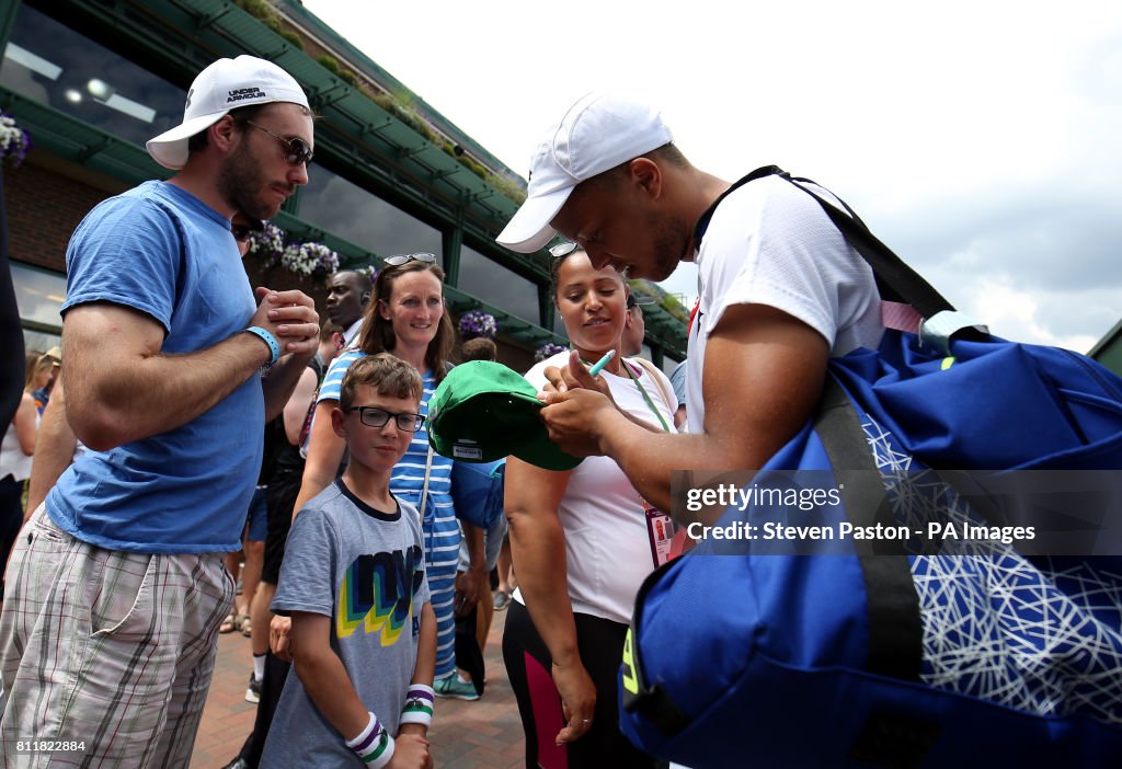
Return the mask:
<svg viewBox="0 0 1122 769">
<path fill-rule="evenodd" d="M 429 400 L 429 443 L 461 462 L 516 456 L 545 470 L 572 470 L 580 458 L 550 441 L 543 404 L 522 374 L 502 363 L 470 361 L 448 372 Z"/>
</svg>

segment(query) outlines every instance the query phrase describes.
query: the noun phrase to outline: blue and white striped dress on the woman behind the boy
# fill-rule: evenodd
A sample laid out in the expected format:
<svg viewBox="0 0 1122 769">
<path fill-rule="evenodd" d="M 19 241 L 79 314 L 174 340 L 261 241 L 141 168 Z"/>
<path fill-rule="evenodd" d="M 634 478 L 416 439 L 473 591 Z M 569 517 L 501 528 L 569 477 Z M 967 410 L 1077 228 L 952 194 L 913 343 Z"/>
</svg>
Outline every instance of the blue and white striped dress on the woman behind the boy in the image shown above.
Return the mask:
<svg viewBox="0 0 1122 769">
<path fill-rule="evenodd" d="M 320 400 L 339 400 L 343 376 L 351 363 L 366 355 L 361 350 L 348 350 L 335 358 L 320 386 Z M 421 414 L 429 416 L 429 399 L 436 390 L 432 372 L 422 376 L 424 396 Z M 427 427 L 427 423 L 425 424 Z M 429 432 L 422 428 L 413 434 L 413 442 L 402 461 L 394 466 L 389 491 L 421 509 L 424 488 L 424 467 L 429 456 Z M 425 544 L 425 575 L 432 593 L 432 609 L 436 614 L 436 678 L 456 671 L 456 617 L 452 602 L 456 593 L 456 566 L 459 559 L 460 527 L 452 507 L 452 461 L 432 455 L 429 470 L 429 509 L 422 511 Z"/>
</svg>

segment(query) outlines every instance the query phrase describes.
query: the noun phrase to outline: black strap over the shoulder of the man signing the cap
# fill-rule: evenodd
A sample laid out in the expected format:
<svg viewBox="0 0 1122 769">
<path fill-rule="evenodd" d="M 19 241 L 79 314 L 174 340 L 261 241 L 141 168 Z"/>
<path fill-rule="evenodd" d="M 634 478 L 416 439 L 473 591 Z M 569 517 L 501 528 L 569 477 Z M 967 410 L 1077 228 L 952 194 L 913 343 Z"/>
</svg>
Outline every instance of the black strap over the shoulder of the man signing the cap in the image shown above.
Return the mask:
<svg viewBox="0 0 1122 769">
<path fill-rule="evenodd" d="M 953 311 L 955 308 L 954 305 L 947 302 L 947 299 L 945 299 L 942 295 L 931 286 L 931 284 L 925 280 L 919 272 L 904 263 L 904 261 L 898 257 L 892 249 L 881 242 L 881 240 L 873 234 L 872 230 L 868 229 L 868 226 L 861 220 L 859 216 L 857 216 L 856 212 L 854 212 L 854 210 L 845 203 L 845 201 L 836 195 L 834 196 L 837 200 L 837 203 L 842 206 L 839 209 L 834 202 L 821 196 L 808 185 L 813 185 L 822 189 L 825 189 L 825 187 L 821 187 L 821 185 L 818 185 L 808 178 L 792 177 L 779 166 L 763 166 L 761 168 L 756 168 L 754 172 L 726 189 L 725 193 L 718 197 L 698 220 L 693 231 L 693 242 L 701 242 L 701 238 L 705 235 L 705 231 L 709 226 L 709 220 L 712 217 L 714 211 L 729 193 L 748 182 L 764 178 L 766 176 L 779 176 L 780 178 L 790 182 L 793 186 L 807 193 L 818 202 L 826 215 L 830 217 L 834 226 L 842 232 L 846 241 L 853 245 L 854 249 L 856 249 L 865 262 L 872 268 L 873 275 L 876 278 L 876 287 L 882 299 L 911 305 L 911 307 L 925 318 L 929 318 L 944 311 Z M 833 195 L 833 193 L 830 194 Z M 983 333 L 974 328 L 964 328 L 957 332 L 955 336 L 957 339 L 971 340 L 985 339 Z"/>
</svg>

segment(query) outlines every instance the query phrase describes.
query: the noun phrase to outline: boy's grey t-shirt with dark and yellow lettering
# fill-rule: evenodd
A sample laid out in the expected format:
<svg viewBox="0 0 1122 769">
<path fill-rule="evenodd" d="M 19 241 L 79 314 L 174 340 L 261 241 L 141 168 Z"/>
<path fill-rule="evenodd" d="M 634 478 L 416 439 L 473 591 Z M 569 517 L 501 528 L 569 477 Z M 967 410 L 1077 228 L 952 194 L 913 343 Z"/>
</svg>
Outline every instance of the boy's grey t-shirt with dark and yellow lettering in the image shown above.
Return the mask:
<svg viewBox="0 0 1122 769">
<path fill-rule="evenodd" d="M 397 734 L 416 663 L 421 608 L 429 601 L 416 509 L 379 512 L 337 480 L 296 516 L 272 609 L 331 618 L 331 648 L 355 691 Z M 295 669 L 269 729 L 263 767 L 362 766 L 320 714 Z"/>
</svg>

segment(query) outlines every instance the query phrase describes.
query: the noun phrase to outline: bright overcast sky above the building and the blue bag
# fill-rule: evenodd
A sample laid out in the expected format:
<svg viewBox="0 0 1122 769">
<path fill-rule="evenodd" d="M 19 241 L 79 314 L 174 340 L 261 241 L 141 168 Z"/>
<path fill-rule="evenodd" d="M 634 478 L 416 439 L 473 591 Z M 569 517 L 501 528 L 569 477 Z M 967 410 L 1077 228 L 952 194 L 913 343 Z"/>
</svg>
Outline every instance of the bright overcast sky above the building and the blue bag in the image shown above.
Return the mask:
<svg viewBox="0 0 1122 769">
<path fill-rule="evenodd" d="M 829 187 L 999 335 L 1085 352 L 1122 317 L 1119 0 L 304 6 L 519 174 L 631 93 L 705 170 Z"/>
</svg>

